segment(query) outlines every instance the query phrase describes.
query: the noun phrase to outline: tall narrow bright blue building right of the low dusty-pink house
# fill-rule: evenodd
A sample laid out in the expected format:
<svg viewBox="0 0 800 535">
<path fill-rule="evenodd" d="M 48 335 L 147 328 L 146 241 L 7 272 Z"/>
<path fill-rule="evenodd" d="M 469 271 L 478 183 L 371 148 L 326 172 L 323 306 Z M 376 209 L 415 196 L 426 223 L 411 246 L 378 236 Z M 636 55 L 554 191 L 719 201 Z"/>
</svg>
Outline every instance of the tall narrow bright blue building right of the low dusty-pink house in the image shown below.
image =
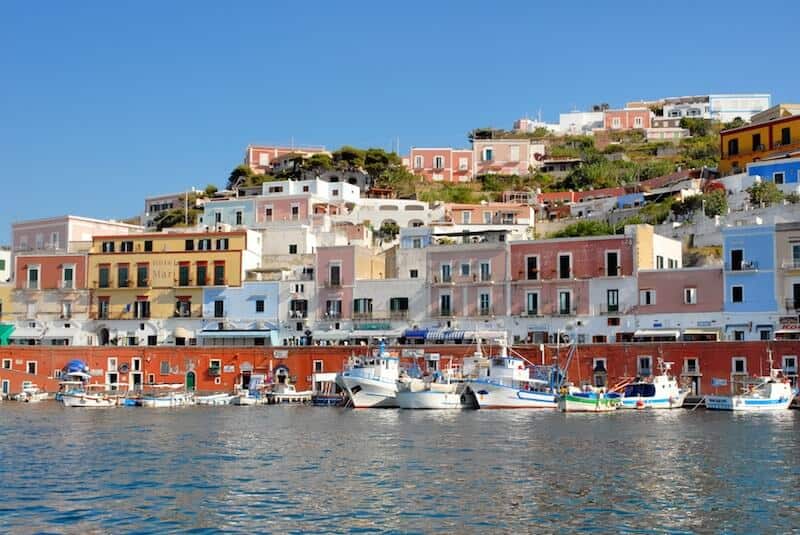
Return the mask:
<svg viewBox="0 0 800 535">
<path fill-rule="evenodd" d="M 722 231 L 725 312 L 776 312 L 775 226 Z"/>
</svg>

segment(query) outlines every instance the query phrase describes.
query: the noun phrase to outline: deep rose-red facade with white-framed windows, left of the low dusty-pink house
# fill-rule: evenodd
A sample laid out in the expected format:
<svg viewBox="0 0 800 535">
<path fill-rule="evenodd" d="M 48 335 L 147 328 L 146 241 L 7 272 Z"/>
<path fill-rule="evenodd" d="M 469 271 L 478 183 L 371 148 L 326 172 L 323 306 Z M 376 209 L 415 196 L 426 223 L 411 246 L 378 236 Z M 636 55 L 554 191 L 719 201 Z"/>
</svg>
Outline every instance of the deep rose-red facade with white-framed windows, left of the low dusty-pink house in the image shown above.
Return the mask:
<svg viewBox="0 0 800 535">
<path fill-rule="evenodd" d="M 590 314 L 589 282 L 633 275 L 626 236 L 511 243 L 511 314 Z"/>
</svg>

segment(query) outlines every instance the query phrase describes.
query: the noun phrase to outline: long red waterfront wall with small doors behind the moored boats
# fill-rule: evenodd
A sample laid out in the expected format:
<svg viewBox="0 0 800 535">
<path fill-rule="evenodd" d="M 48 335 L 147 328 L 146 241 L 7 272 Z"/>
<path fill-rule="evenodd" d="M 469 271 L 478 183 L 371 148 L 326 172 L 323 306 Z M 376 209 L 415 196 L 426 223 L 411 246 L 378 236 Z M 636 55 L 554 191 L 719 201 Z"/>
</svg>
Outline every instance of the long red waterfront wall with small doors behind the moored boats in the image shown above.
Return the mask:
<svg viewBox="0 0 800 535">
<path fill-rule="evenodd" d="M 424 350 L 426 353 L 438 353 L 443 360 L 452 358 L 460 361 L 475 351 L 472 345 L 428 345 L 403 346 L 390 348 L 394 354 L 401 350 Z M 497 348 L 484 346 L 484 353 L 497 352 Z M 552 364 L 556 360 L 563 366 L 566 361 L 567 348 L 558 350 L 555 346 L 516 346 L 519 352 L 534 364 Z M 575 383 L 591 382 L 594 375 L 595 359 L 606 359 L 607 384 L 614 385 L 626 377 L 635 376 L 639 357 L 650 356 L 654 370 L 662 358 L 673 362 L 673 373 L 680 375 L 684 371 L 686 359 L 697 359 L 697 382 L 700 393 L 715 390 L 722 393 L 727 387 L 714 388 L 712 378 L 726 379 L 730 382 L 733 372 L 733 358 L 746 360 L 749 375 L 766 374 L 768 350 L 772 350 L 773 366 L 780 368 L 784 356 L 800 356 L 800 342 L 671 342 L 671 343 L 628 343 L 628 344 L 592 344 L 582 346 L 573 358 L 569 370 L 569 380 Z M 285 366 L 298 389 L 310 388 L 314 361 L 322 362 L 323 372 L 338 372 L 347 358 L 352 354 L 362 354 L 364 348 L 348 346 L 331 347 L 287 347 L 287 348 L 252 348 L 252 347 L 42 347 L 42 346 L 6 346 L 0 347 L 0 381 L 9 381 L 10 393 L 21 390 L 22 381 L 33 381 L 41 388 L 54 392 L 58 389 L 56 370 L 61 370 L 67 362 L 80 359 L 86 362 L 96 375 L 92 382 L 106 382 L 105 372 L 108 359 L 117 359 L 117 369 L 127 364 L 133 369 L 133 359 L 140 358 L 143 382 L 152 379 L 157 383 L 183 383 L 186 374 L 194 371 L 198 391 L 230 391 L 241 381 L 242 369 L 252 368 L 253 373 L 268 373 L 270 367 Z M 284 356 L 285 355 L 285 356 Z M 219 359 L 222 372 L 219 382 L 209 373 L 212 359 Z M 798 359 L 796 358 L 797 362 Z M 36 363 L 36 373 L 26 373 L 28 362 Z M 3 366 L 10 364 L 11 369 Z M 226 371 L 227 369 L 227 371 Z M 161 373 L 168 371 L 168 373 Z M 118 381 L 127 382 L 130 372 L 119 372 Z"/>
</svg>

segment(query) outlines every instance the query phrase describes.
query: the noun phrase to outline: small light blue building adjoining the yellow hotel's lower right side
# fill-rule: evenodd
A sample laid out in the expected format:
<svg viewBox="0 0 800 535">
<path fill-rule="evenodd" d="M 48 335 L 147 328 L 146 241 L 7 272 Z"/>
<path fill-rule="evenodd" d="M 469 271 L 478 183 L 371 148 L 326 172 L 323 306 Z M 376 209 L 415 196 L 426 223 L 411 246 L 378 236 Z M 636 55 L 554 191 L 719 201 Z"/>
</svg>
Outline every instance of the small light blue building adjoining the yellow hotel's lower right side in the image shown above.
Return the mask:
<svg viewBox="0 0 800 535">
<path fill-rule="evenodd" d="M 278 345 L 279 283 L 203 289 L 203 345 Z"/>
</svg>

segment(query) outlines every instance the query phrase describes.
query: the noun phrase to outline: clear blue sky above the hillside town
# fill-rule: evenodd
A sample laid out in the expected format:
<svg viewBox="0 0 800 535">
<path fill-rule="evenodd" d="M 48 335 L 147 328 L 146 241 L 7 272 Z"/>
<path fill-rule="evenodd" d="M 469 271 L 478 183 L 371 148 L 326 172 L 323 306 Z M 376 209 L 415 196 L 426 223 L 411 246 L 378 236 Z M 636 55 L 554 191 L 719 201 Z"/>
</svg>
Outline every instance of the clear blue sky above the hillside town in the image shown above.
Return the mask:
<svg viewBox="0 0 800 535">
<path fill-rule="evenodd" d="M 796 1 L 2 2 L 0 243 L 221 184 L 248 143 L 405 152 L 540 109 L 797 102 L 798 20 Z"/>
</svg>

